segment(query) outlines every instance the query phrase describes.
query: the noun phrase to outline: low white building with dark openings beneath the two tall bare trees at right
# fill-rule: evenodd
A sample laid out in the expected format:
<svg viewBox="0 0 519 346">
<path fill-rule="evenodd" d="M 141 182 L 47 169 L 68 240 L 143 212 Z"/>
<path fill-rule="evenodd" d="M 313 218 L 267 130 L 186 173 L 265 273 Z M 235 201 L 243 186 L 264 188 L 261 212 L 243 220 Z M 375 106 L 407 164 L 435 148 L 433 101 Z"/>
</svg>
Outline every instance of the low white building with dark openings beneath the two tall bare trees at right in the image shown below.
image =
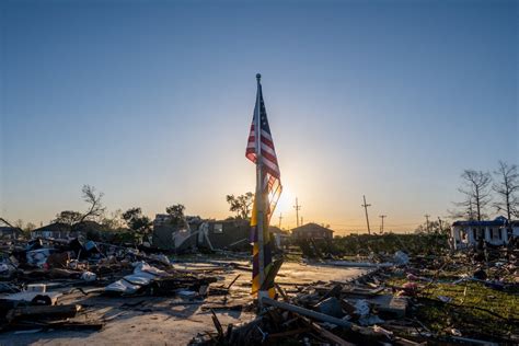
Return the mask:
<svg viewBox="0 0 519 346">
<path fill-rule="evenodd" d="M 505 245 L 511 237 L 519 237 L 519 221 L 508 221 L 503 216 L 494 220 L 455 221 L 452 223 L 451 237 L 454 249 L 474 245 L 480 240 L 492 245 Z"/>
</svg>

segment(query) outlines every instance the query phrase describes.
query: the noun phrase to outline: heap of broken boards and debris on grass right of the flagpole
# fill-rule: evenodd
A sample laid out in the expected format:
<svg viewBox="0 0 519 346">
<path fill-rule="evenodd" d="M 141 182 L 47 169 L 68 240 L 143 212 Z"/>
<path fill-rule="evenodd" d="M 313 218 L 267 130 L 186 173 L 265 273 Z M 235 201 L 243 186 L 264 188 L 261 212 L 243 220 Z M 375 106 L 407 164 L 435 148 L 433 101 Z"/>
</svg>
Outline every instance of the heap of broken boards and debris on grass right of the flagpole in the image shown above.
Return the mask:
<svg viewBox="0 0 519 346">
<path fill-rule="evenodd" d="M 224 327 L 215 315 L 216 332 L 192 344 L 517 345 L 518 252 L 488 249 L 483 258 L 476 250 L 453 256 L 397 252 L 391 265 L 373 264 L 351 282 L 276 286 L 278 300 L 263 298 L 257 319 Z M 498 311 L 481 299 L 510 305 Z"/>
</svg>

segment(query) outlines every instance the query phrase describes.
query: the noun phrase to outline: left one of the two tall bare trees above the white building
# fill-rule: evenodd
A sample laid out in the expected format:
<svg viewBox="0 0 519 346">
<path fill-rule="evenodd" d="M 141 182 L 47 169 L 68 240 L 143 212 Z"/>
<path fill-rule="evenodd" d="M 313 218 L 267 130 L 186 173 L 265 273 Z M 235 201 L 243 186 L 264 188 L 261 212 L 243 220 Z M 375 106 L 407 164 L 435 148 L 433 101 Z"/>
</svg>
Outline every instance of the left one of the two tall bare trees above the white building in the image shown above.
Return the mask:
<svg viewBox="0 0 519 346">
<path fill-rule="evenodd" d="M 465 195 L 465 200 L 459 205 L 464 206 L 469 214 L 475 215 L 477 221 L 485 217 L 486 206 L 491 203 L 489 185 L 492 176 L 489 173 L 474 170 L 465 170 L 461 174 L 463 187 L 459 192 Z"/>
</svg>

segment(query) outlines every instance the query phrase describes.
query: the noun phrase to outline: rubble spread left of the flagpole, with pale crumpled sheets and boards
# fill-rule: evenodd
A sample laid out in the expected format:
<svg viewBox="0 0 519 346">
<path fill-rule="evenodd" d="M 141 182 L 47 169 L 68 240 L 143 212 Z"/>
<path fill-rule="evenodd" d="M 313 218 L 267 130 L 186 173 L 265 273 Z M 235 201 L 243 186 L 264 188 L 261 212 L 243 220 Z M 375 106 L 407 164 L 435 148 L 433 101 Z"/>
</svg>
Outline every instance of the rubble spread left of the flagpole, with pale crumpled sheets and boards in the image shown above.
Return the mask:
<svg viewBox="0 0 519 346">
<path fill-rule="evenodd" d="M 5 243 L 0 257 L 0 332 L 100 330 L 68 296 L 200 297 L 215 276 L 175 269 L 168 256 L 73 239 Z M 81 321 L 81 322 L 78 322 Z"/>
</svg>

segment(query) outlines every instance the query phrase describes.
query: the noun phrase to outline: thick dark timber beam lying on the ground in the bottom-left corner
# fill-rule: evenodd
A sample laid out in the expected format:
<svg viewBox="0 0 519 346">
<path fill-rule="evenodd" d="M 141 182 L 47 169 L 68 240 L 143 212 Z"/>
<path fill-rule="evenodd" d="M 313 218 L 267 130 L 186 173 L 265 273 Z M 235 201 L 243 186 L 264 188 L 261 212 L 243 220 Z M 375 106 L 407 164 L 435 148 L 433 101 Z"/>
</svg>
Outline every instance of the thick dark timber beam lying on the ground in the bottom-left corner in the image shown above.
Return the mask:
<svg viewBox="0 0 519 346">
<path fill-rule="evenodd" d="M 18 319 L 69 319 L 76 316 L 81 305 L 27 305 L 11 309 L 7 314 L 8 321 Z"/>
</svg>

